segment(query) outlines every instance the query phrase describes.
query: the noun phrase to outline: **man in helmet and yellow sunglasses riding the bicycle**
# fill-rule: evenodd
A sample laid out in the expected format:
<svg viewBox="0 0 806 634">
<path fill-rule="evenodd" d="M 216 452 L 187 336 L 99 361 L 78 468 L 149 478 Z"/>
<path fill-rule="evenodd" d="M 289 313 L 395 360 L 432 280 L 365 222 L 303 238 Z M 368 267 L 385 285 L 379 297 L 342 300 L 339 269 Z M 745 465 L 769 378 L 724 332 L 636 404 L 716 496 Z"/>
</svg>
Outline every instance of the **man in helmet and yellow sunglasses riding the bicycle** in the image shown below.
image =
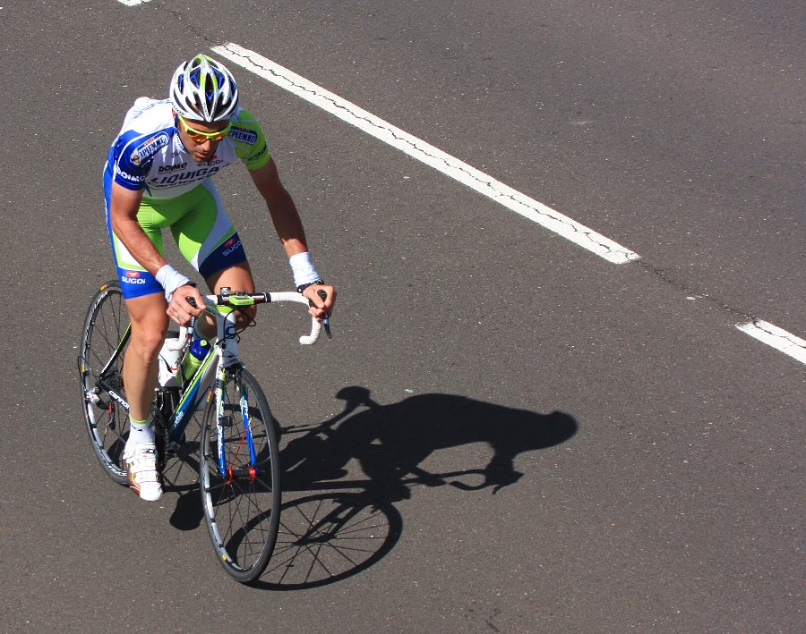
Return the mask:
<svg viewBox="0 0 806 634">
<path fill-rule="evenodd" d="M 236 159 L 266 201 L 296 289 L 311 302 L 313 317 L 329 315 L 336 299 L 313 266 L 296 205 L 280 182 L 260 125 L 239 106 L 232 74 L 206 55 L 181 63 L 167 99 L 134 102 L 104 170 L 107 229 L 132 321 L 124 359 L 131 429 L 124 461 L 129 486 L 144 500 L 162 495 L 151 402 L 168 318 L 187 325 L 204 307 L 195 285 L 163 257 L 162 229 L 170 227 L 211 292 L 225 286 L 254 292 L 244 246 L 210 180 Z M 202 334 L 212 332 L 211 322 L 198 323 Z"/>
</svg>

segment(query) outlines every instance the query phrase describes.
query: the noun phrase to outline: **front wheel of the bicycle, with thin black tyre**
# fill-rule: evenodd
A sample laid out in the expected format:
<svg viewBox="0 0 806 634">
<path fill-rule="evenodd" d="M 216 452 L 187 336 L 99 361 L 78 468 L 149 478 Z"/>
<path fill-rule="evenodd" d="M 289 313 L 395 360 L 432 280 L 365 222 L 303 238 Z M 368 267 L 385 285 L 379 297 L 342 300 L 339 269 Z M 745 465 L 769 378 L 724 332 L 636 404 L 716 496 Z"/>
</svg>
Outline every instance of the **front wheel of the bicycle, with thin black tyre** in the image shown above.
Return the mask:
<svg viewBox="0 0 806 634">
<path fill-rule="evenodd" d="M 277 541 L 281 504 L 278 427 L 254 376 L 244 368 L 226 372 L 221 390 L 221 437 L 228 476 L 219 472 L 217 399 L 208 398 L 201 423 L 201 508 L 224 570 L 241 583 L 251 583 L 266 569 Z M 210 390 L 215 394 L 215 388 Z M 245 443 L 241 394 L 246 395 L 254 464 Z M 251 475 L 250 467 L 256 469 Z"/>
</svg>

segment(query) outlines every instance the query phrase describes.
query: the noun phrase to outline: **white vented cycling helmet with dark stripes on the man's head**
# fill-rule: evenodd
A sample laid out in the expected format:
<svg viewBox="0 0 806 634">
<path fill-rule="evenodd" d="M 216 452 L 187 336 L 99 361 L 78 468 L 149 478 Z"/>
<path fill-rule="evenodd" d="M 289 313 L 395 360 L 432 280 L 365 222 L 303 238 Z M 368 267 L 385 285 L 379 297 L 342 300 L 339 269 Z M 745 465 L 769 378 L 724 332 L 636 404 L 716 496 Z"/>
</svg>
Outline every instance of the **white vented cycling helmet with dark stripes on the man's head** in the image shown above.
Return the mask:
<svg viewBox="0 0 806 634">
<path fill-rule="evenodd" d="M 232 73 L 207 55 L 179 64 L 168 96 L 176 113 L 192 121 L 226 121 L 238 108 L 238 87 Z"/>
</svg>

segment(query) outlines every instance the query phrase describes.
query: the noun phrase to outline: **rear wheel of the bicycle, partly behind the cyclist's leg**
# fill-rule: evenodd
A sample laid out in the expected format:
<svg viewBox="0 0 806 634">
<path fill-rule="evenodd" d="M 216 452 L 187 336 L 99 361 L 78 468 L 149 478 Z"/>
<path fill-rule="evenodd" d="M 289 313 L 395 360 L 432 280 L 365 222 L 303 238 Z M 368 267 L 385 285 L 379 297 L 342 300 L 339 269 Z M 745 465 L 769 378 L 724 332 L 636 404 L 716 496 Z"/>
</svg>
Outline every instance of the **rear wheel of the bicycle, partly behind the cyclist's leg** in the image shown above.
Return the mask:
<svg viewBox="0 0 806 634">
<path fill-rule="evenodd" d="M 127 485 L 123 461 L 129 418 L 124 407 L 99 385 L 100 372 L 112 358 L 129 325 L 120 283 L 103 284 L 90 301 L 81 333 L 78 367 L 84 423 L 90 445 L 109 478 Z M 123 391 L 123 354 L 107 368 L 104 381 Z"/>
</svg>

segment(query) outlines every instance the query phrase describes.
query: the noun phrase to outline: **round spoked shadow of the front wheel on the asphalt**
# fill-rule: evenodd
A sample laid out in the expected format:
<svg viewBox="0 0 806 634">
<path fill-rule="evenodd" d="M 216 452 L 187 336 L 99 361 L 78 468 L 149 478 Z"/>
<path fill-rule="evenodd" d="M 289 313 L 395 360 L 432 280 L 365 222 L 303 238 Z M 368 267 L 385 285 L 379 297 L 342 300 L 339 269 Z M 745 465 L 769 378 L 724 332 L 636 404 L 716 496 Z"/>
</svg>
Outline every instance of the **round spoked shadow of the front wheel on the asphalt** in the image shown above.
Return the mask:
<svg viewBox="0 0 806 634">
<path fill-rule="evenodd" d="M 398 542 L 400 513 L 360 493 L 320 494 L 283 504 L 266 571 L 254 585 L 271 590 L 318 588 L 382 560 Z"/>
</svg>

